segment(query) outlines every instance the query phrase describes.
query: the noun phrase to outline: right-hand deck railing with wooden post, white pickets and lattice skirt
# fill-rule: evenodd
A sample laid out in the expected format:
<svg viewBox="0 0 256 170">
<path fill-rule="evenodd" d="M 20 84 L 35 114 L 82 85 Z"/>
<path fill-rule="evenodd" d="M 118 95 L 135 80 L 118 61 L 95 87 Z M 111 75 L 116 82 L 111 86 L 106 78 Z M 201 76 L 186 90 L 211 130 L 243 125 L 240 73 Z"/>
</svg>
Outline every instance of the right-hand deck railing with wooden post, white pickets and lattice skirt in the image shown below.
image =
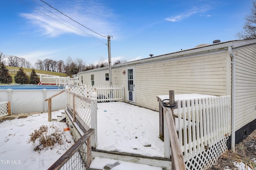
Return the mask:
<svg viewBox="0 0 256 170">
<path fill-rule="evenodd" d="M 231 134 L 230 96 L 174 101 L 174 91 L 171 92 L 168 104 L 158 97 L 160 137 L 164 139 L 165 157 L 170 158 L 171 141 L 172 161 L 182 156 L 187 169 L 210 168 L 227 150 L 226 140 Z M 171 133 L 172 124 L 176 130 Z M 178 142 L 178 147 L 173 144 L 175 142 Z M 173 152 L 177 148 L 182 155 Z M 177 166 L 177 163 L 172 163 Z"/>
</svg>

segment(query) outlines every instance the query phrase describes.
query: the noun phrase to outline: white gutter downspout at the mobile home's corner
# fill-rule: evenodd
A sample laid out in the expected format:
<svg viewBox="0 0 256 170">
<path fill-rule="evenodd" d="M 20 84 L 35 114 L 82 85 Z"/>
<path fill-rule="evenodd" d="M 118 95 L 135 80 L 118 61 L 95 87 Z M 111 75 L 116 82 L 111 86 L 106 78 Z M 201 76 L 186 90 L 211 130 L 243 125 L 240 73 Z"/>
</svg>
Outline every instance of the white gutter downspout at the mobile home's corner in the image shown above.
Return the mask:
<svg viewBox="0 0 256 170">
<path fill-rule="evenodd" d="M 232 137 L 231 137 L 231 149 L 233 152 L 235 152 L 235 114 L 236 114 L 236 111 L 235 111 L 235 97 L 236 97 L 236 84 L 235 84 L 235 81 L 236 81 L 236 56 L 234 55 L 233 51 L 232 51 L 232 47 L 229 46 L 228 47 L 228 53 L 230 55 L 230 57 L 232 58 L 231 60 L 231 64 L 232 64 L 232 77 L 231 77 L 231 81 L 232 81 L 232 85 L 231 85 L 231 88 L 232 88 L 232 99 L 231 99 L 231 103 L 232 103 L 232 120 L 231 120 L 231 134 L 232 134 Z"/>
</svg>

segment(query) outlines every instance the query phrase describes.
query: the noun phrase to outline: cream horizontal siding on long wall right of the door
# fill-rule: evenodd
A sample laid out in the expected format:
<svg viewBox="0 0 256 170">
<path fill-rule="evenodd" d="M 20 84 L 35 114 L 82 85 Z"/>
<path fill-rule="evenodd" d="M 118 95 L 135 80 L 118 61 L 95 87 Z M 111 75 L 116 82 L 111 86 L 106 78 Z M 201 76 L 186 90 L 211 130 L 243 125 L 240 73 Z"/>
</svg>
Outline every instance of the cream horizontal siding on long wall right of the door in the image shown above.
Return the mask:
<svg viewBox="0 0 256 170">
<path fill-rule="evenodd" d="M 156 96 L 200 93 L 225 95 L 230 84 L 226 52 L 136 65 L 136 104 L 158 110 Z M 229 70 L 230 71 L 230 70 Z M 230 89 L 230 88 L 229 88 Z"/>
</svg>

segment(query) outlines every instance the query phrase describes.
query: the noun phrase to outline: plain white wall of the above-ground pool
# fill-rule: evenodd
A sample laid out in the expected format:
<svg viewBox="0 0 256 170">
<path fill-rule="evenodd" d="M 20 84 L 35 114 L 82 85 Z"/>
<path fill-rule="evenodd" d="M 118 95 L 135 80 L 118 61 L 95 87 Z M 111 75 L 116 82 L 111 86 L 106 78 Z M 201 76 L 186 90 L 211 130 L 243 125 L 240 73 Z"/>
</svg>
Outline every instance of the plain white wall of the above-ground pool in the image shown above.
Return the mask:
<svg viewBox="0 0 256 170">
<path fill-rule="evenodd" d="M 11 114 L 47 112 L 48 102 L 45 99 L 52 97 L 63 89 L 39 89 L 39 90 L 0 90 L 0 102 L 10 101 Z M 66 93 L 52 98 L 52 111 L 65 109 Z"/>
</svg>

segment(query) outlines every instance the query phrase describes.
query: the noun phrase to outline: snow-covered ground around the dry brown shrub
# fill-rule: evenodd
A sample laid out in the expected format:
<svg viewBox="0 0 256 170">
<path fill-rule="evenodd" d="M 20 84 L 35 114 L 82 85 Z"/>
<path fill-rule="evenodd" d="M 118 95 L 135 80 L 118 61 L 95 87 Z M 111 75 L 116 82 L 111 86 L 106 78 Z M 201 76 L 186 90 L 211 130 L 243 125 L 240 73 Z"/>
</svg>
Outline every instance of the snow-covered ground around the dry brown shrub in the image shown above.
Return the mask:
<svg viewBox="0 0 256 170">
<path fill-rule="evenodd" d="M 61 115 L 60 111 L 52 112 L 52 118 L 57 119 Z M 56 125 L 63 130 L 65 138 L 70 143 L 65 142 L 62 145 L 55 144 L 51 150 L 34 151 L 32 143 L 28 143 L 29 134 L 34 132 L 42 125 Z M 66 123 L 48 122 L 48 113 L 39 114 L 39 116 L 28 116 L 23 119 L 12 119 L 0 123 L 0 169 L 1 170 L 46 170 L 62 154 L 74 144 L 69 131 L 64 131 Z"/>
</svg>

